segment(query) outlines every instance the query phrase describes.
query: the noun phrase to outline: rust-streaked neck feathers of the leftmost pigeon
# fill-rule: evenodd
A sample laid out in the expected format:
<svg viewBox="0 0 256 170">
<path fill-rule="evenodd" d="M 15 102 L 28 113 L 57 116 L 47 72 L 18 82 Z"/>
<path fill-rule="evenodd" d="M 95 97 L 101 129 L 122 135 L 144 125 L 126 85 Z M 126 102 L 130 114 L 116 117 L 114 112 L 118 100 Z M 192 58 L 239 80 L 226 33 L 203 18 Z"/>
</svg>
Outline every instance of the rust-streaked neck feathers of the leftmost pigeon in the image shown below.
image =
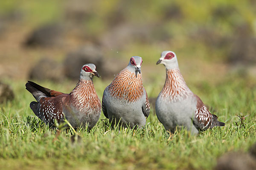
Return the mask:
<svg viewBox="0 0 256 170">
<path fill-rule="evenodd" d="M 81 111 L 84 108 L 100 109 L 101 102 L 96 94 L 93 81 L 79 79 L 76 87 L 70 93 L 73 105 Z"/>
</svg>

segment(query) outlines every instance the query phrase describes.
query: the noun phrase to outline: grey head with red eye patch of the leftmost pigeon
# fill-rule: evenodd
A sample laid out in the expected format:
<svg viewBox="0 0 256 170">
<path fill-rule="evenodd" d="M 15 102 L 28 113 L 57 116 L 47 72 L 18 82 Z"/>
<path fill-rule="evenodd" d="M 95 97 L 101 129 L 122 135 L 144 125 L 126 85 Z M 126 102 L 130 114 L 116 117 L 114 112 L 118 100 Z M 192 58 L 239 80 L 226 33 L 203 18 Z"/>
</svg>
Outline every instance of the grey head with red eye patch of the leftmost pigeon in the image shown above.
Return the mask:
<svg viewBox="0 0 256 170">
<path fill-rule="evenodd" d="M 93 76 L 100 77 L 94 64 L 85 64 L 81 68 L 80 79 L 92 79 Z"/>
</svg>

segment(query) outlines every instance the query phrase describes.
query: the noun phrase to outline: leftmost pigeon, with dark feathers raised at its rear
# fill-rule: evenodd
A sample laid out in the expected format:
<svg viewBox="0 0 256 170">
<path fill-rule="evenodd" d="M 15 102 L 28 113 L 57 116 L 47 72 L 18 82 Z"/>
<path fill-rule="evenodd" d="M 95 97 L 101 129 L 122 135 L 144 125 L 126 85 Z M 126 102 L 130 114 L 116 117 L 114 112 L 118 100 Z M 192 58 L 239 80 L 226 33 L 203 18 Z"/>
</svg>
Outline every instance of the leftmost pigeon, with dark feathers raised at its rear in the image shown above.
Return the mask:
<svg viewBox="0 0 256 170">
<path fill-rule="evenodd" d="M 83 65 L 79 82 L 70 94 L 28 81 L 26 89 L 37 100 L 30 103 L 30 108 L 50 127 L 54 125 L 54 119 L 60 123 L 65 117 L 74 128 L 82 125 L 90 130 L 98 122 L 101 113 L 101 102 L 92 81 L 94 75 L 99 77 L 94 64 Z"/>
</svg>

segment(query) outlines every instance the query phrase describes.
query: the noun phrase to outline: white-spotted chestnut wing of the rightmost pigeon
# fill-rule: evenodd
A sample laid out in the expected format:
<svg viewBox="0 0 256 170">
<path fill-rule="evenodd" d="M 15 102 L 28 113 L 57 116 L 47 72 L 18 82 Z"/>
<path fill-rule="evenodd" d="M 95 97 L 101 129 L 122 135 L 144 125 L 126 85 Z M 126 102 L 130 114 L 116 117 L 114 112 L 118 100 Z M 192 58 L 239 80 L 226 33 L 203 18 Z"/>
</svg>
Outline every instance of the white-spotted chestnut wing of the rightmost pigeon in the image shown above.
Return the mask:
<svg viewBox="0 0 256 170">
<path fill-rule="evenodd" d="M 193 121 L 195 127 L 204 131 L 207 130 L 212 125 L 212 114 L 204 105 L 202 100 L 196 96 L 197 98 L 197 109 L 195 111 L 195 119 Z"/>
</svg>

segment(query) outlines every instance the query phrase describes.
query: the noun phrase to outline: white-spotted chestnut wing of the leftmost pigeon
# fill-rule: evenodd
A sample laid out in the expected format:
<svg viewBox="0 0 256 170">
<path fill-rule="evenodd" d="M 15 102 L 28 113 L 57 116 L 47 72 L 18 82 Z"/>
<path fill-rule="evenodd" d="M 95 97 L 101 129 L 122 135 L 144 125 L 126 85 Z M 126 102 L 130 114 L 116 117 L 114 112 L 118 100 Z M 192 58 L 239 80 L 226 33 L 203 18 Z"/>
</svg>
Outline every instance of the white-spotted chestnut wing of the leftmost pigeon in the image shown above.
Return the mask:
<svg viewBox="0 0 256 170">
<path fill-rule="evenodd" d="M 41 99 L 38 115 L 40 119 L 43 120 L 49 126 L 54 125 L 54 119 L 59 123 L 64 118 L 63 107 L 62 107 L 62 97 L 67 94 L 63 94 L 57 97 L 47 97 Z"/>
</svg>

